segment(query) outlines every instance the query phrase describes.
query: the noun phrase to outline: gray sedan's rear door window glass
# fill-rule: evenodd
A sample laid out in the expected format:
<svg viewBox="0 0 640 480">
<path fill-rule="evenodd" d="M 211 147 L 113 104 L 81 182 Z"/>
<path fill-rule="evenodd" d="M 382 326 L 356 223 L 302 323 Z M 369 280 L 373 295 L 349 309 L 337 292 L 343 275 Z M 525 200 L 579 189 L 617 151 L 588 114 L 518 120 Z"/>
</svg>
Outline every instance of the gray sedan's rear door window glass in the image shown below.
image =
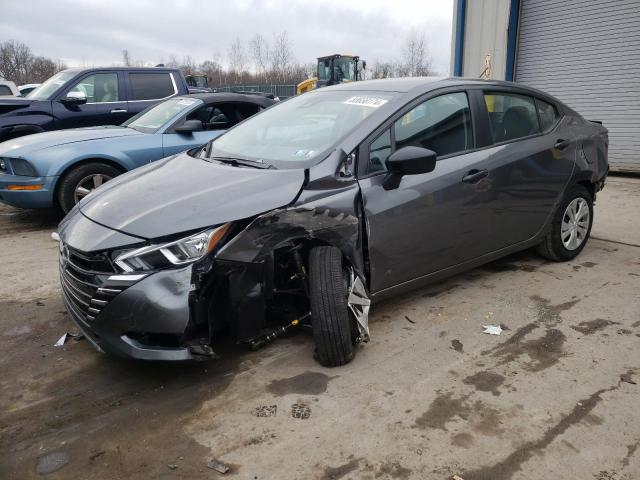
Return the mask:
<svg viewBox="0 0 640 480">
<path fill-rule="evenodd" d="M 493 143 L 507 142 L 540 133 L 532 97 L 513 93 L 485 93 Z"/>
</svg>

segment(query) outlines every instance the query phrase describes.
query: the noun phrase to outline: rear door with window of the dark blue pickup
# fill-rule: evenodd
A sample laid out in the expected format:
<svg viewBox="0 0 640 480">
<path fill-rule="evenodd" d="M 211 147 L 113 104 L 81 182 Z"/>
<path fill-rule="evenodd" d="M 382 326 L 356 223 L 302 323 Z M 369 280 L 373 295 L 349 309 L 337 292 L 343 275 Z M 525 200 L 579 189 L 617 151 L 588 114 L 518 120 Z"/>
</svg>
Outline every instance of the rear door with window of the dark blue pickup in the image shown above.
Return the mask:
<svg viewBox="0 0 640 480">
<path fill-rule="evenodd" d="M 133 116 L 147 107 L 178 94 L 173 73 L 166 71 L 126 72 L 127 110 Z"/>
</svg>

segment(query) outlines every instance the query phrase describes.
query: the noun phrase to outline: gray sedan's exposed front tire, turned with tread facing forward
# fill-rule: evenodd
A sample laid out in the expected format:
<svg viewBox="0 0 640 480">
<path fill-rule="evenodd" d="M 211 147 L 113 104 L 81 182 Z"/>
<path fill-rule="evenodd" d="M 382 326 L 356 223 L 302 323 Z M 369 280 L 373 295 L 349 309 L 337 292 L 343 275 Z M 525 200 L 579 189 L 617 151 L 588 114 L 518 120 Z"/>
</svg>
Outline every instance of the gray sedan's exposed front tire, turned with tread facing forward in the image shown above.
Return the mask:
<svg viewBox="0 0 640 480">
<path fill-rule="evenodd" d="M 349 363 L 353 358 L 353 334 L 339 249 L 315 247 L 311 250 L 309 289 L 318 362 L 325 367 Z"/>
</svg>

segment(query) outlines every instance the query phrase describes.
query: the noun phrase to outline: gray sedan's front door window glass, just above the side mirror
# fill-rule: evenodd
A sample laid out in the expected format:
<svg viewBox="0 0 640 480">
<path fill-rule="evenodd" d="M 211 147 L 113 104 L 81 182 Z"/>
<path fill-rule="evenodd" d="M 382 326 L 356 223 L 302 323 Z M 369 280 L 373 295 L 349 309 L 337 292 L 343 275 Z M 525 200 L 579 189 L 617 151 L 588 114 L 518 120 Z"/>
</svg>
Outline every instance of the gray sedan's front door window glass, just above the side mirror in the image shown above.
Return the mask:
<svg viewBox="0 0 640 480">
<path fill-rule="evenodd" d="M 394 124 L 395 148 L 428 148 L 438 156 L 473 147 L 469 101 L 465 93 L 448 93 L 418 105 Z"/>
</svg>

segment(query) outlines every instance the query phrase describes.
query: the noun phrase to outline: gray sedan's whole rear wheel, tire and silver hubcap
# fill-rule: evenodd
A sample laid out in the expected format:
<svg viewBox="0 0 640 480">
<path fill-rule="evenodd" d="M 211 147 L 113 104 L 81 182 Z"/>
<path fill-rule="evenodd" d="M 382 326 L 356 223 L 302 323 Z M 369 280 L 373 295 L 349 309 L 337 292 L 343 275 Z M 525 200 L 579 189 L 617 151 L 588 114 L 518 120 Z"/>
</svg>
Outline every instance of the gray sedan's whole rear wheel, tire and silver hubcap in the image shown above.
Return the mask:
<svg viewBox="0 0 640 480">
<path fill-rule="evenodd" d="M 574 185 L 565 194 L 538 253 L 555 262 L 577 257 L 587 244 L 592 224 L 593 198 L 585 187 Z"/>
</svg>

